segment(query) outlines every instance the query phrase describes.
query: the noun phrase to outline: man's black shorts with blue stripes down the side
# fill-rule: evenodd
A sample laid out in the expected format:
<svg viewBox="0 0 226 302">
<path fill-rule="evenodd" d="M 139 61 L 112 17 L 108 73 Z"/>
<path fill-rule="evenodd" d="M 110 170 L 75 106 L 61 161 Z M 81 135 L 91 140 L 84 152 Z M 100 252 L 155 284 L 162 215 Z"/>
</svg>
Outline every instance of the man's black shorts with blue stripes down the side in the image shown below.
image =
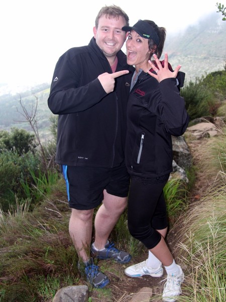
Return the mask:
<svg viewBox="0 0 226 302">
<path fill-rule="evenodd" d="M 94 168 L 62 165 L 70 208 L 89 210 L 103 200 L 103 190 L 127 197 L 130 177 L 126 167 Z"/>
</svg>

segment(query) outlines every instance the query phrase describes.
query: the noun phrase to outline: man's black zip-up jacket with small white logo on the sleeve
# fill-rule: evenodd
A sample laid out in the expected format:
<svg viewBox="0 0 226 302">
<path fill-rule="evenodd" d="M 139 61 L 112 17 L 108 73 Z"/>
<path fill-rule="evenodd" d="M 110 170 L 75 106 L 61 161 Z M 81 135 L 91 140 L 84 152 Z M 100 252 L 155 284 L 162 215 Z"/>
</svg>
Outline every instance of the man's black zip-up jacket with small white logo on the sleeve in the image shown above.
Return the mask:
<svg viewBox="0 0 226 302">
<path fill-rule="evenodd" d="M 126 55 L 117 55 L 117 70 L 134 70 Z M 98 75 L 112 73 L 92 38 L 58 60 L 48 106 L 59 115 L 56 162 L 68 166 L 117 167 L 125 159 L 126 106 L 132 73 L 116 78 L 115 90 L 106 94 Z"/>
</svg>

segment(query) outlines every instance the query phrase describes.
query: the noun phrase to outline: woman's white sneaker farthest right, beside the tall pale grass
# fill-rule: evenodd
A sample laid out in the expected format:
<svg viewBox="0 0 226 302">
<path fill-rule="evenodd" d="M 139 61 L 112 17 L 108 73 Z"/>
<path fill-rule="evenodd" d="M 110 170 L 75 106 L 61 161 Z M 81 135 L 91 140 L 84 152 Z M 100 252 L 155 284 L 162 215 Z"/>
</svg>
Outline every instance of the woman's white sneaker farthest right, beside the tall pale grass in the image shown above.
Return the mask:
<svg viewBox="0 0 226 302">
<path fill-rule="evenodd" d="M 167 275 L 166 283 L 163 289 L 163 301 L 174 302 L 176 301 L 176 296 L 181 293 L 181 283 L 184 280 L 184 273 L 179 265 L 180 273 L 178 275 Z"/>
</svg>

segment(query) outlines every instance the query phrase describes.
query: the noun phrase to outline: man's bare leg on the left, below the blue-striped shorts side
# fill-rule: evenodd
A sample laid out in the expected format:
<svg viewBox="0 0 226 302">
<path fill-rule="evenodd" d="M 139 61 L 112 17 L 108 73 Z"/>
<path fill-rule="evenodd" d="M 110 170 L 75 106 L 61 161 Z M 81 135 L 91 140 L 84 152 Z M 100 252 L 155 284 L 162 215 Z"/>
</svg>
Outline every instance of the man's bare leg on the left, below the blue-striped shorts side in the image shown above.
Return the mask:
<svg viewBox="0 0 226 302">
<path fill-rule="evenodd" d="M 69 221 L 69 234 L 83 262 L 90 259 L 90 245 L 92 236 L 92 217 L 91 210 L 72 209 Z"/>
</svg>

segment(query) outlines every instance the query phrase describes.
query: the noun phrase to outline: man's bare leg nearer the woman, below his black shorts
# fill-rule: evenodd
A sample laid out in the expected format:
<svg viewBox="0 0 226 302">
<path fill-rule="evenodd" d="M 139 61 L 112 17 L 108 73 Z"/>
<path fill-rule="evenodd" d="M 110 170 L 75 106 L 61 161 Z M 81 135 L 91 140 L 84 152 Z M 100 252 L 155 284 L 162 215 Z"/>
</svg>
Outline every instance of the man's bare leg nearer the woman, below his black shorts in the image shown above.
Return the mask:
<svg viewBox="0 0 226 302">
<path fill-rule="evenodd" d="M 103 203 L 99 207 L 94 221 L 96 249 L 103 249 L 111 231 L 127 206 L 127 197 L 118 197 L 103 191 Z"/>
</svg>

